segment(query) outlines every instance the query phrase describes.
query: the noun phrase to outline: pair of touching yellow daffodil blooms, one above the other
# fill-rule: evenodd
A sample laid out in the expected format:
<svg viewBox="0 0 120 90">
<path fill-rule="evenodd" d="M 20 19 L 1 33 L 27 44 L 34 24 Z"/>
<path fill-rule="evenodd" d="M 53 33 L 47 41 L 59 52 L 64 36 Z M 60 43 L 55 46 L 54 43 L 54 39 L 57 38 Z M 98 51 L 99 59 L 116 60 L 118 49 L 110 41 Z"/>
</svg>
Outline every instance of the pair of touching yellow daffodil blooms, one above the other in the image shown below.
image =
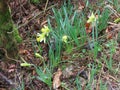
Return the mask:
<svg viewBox="0 0 120 90">
<path fill-rule="evenodd" d="M 49 35 L 50 30 L 47 26 L 44 26 L 44 28 L 41 29 L 41 34 L 37 33 L 37 38 L 36 41 L 37 42 L 42 42 L 44 41 L 44 43 L 46 42 L 46 37 Z"/>
</svg>

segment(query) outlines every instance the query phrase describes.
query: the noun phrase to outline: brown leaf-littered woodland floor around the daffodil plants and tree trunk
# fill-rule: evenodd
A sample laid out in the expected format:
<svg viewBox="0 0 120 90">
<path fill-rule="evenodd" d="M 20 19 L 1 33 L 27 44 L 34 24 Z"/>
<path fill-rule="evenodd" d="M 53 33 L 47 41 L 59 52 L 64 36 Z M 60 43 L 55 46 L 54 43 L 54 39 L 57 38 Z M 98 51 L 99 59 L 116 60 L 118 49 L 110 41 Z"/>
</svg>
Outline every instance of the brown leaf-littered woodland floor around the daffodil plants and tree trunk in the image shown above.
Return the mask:
<svg viewBox="0 0 120 90">
<path fill-rule="evenodd" d="M 88 0 L 93 5 L 97 2 L 97 0 Z M 36 43 L 36 33 L 40 31 L 40 29 L 46 25 L 47 19 L 49 16 L 53 15 L 52 8 L 60 8 L 63 5 L 64 0 L 50 0 L 46 6 L 46 2 L 42 4 L 31 4 L 28 0 L 12 0 L 10 4 L 12 18 L 14 23 L 18 26 L 20 36 L 23 41 L 18 45 L 19 47 L 19 56 L 20 59 L 23 58 L 26 62 L 32 63 L 36 66 L 42 66 L 43 63 L 39 58 L 36 58 L 34 55 L 34 51 L 39 51 Z M 78 10 L 84 9 L 85 3 L 82 0 L 72 0 L 71 3 L 74 6 L 79 6 Z M 101 7 L 102 9 L 102 7 Z M 118 15 L 120 15 L 118 13 Z M 120 16 L 119 16 L 120 17 Z M 112 19 L 116 18 L 115 15 L 111 17 Z M 111 21 L 112 21 L 111 19 Z M 54 25 L 54 23 L 53 23 Z M 120 25 L 116 25 L 114 23 L 109 24 L 107 28 L 114 29 L 112 32 L 112 39 L 116 40 L 117 32 L 116 28 L 120 30 Z M 107 29 L 106 28 L 106 29 Z M 107 42 L 104 41 L 102 52 L 98 53 L 98 59 L 103 54 L 108 54 L 107 48 L 104 46 Z M 109 39 L 110 40 L 110 39 Z M 42 56 L 44 57 L 45 63 L 49 62 L 48 58 L 48 45 L 41 43 L 42 47 Z M 75 79 L 77 76 L 80 76 L 79 79 L 81 81 L 82 90 L 84 90 L 86 86 L 86 82 L 89 79 L 89 73 L 91 70 L 91 66 L 93 63 L 98 63 L 98 61 L 94 61 L 92 55 L 89 52 L 89 48 L 85 45 L 83 48 L 87 50 L 87 52 L 83 53 L 82 50 L 74 49 L 72 53 L 68 54 L 66 52 L 62 53 L 63 63 L 60 63 L 55 69 L 53 76 L 55 73 L 58 73 L 58 68 L 64 68 L 62 70 L 61 81 L 65 83 L 64 85 L 59 87 L 58 90 L 77 90 L 75 89 Z M 115 46 L 116 52 L 113 55 L 113 68 L 120 67 L 120 46 L 119 43 Z M 79 55 L 82 55 L 81 57 Z M 73 57 L 74 55 L 74 57 Z M 109 57 L 109 54 L 107 55 Z M 72 59 L 72 60 L 71 60 Z M 67 61 L 71 60 L 71 61 Z M 21 61 L 22 62 L 22 61 Z M 97 65 L 97 64 L 96 64 Z M 23 90 L 20 89 L 22 83 L 24 81 L 24 90 L 49 90 L 49 87 L 40 80 L 32 79 L 33 76 L 37 76 L 37 73 L 33 67 L 21 67 L 19 62 L 3 62 L 0 61 L 0 68 L 2 69 L 0 72 L 0 90 Z M 114 74 L 110 72 L 108 68 L 105 66 L 105 63 L 102 63 L 102 69 L 98 75 L 94 77 L 94 80 L 97 82 L 99 79 L 104 81 L 107 84 L 107 90 L 120 90 L 120 68 L 118 68 L 118 73 Z M 58 77 L 59 78 L 59 77 Z M 52 78 L 53 79 L 53 78 Z M 99 84 L 99 83 L 98 83 Z M 95 86 L 92 84 L 93 90 L 100 90 L 99 85 Z M 96 87 L 96 88 L 95 88 Z M 56 89 L 57 90 L 57 89 Z M 102 89 L 104 90 L 104 89 Z"/>
</svg>

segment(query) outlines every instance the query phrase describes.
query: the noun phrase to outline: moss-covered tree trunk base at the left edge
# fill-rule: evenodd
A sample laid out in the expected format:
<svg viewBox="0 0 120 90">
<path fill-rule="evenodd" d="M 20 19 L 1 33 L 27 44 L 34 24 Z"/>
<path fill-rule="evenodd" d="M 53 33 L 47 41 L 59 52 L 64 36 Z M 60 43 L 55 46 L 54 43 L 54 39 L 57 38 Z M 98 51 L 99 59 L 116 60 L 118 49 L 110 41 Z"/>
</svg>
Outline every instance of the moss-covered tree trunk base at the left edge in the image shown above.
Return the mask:
<svg viewBox="0 0 120 90">
<path fill-rule="evenodd" d="M 6 0 L 0 0 L 0 47 L 7 50 L 9 57 L 15 58 L 18 53 L 17 43 L 21 40 Z"/>
</svg>

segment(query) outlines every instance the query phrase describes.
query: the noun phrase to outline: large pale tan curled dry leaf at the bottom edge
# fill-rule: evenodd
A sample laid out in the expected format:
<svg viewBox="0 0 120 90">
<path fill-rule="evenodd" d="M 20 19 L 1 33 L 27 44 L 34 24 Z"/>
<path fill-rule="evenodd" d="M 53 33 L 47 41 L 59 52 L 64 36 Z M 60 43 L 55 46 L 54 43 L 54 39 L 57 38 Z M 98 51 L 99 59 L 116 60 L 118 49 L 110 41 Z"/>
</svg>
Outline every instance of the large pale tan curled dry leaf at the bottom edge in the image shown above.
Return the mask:
<svg viewBox="0 0 120 90">
<path fill-rule="evenodd" d="M 53 77 L 53 89 L 54 90 L 57 90 L 61 85 L 61 80 L 60 80 L 61 75 L 62 75 L 62 71 L 60 68 L 58 68 L 57 72 L 55 73 Z"/>
</svg>

